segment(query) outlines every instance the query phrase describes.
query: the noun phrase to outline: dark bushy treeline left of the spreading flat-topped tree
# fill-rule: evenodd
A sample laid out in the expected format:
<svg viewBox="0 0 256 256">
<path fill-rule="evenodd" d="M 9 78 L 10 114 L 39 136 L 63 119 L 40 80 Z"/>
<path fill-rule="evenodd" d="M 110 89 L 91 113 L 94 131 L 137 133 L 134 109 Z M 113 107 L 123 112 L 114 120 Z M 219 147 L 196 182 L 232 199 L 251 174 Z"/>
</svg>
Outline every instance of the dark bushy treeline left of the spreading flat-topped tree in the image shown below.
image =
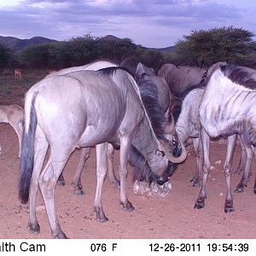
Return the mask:
<svg viewBox="0 0 256 256">
<path fill-rule="evenodd" d="M 136 56 L 149 67 L 158 68 L 164 55 L 133 44 L 131 39 L 93 38 L 90 35 L 68 41 L 29 46 L 13 52 L 0 45 L 0 67 L 55 68 L 80 66 L 97 59 L 120 62 Z"/>
</svg>

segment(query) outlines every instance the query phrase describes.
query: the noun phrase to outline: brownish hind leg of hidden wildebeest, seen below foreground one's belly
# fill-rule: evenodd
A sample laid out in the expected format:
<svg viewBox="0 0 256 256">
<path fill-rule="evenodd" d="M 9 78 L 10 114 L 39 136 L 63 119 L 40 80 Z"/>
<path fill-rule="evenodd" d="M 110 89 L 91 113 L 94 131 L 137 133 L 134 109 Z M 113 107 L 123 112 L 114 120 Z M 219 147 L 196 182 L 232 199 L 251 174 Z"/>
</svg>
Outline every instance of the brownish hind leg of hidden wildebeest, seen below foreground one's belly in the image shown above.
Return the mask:
<svg viewBox="0 0 256 256">
<path fill-rule="evenodd" d="M 81 155 L 79 160 L 78 169 L 73 177 L 73 193 L 76 195 L 84 195 L 83 186 L 81 183 L 81 176 L 83 172 L 84 163 L 90 156 L 90 148 L 81 148 Z"/>
</svg>

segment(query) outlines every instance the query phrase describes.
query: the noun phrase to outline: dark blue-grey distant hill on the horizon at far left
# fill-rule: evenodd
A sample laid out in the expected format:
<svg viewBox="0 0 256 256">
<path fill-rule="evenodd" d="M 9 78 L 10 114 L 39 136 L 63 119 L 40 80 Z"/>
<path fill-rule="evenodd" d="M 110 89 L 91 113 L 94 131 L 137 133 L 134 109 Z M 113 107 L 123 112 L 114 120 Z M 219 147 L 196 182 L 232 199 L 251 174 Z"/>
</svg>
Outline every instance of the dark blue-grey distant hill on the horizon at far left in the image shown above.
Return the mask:
<svg viewBox="0 0 256 256">
<path fill-rule="evenodd" d="M 56 40 L 49 39 L 49 38 L 42 38 L 42 37 L 34 37 L 30 39 L 20 39 L 20 38 L 13 38 L 13 37 L 1 37 L 0 36 L 0 44 L 8 47 L 9 49 L 13 50 L 20 50 L 24 49 L 30 45 L 36 44 L 50 44 L 55 43 Z"/>
</svg>

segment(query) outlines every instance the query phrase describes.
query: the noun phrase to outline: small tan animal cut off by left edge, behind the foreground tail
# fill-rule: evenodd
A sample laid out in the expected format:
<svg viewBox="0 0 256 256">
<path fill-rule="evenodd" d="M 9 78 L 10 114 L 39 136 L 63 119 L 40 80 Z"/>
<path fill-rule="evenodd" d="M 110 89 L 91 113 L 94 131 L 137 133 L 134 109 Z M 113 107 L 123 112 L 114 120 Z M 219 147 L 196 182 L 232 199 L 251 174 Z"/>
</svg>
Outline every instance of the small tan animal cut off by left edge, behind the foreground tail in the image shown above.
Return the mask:
<svg viewBox="0 0 256 256">
<path fill-rule="evenodd" d="M 14 105 L 0 105 L 0 123 L 9 123 L 14 129 L 19 139 L 19 158 L 21 137 L 23 133 L 23 119 L 24 110 L 20 106 Z M 0 154 L 2 148 L 0 145 Z"/>
</svg>

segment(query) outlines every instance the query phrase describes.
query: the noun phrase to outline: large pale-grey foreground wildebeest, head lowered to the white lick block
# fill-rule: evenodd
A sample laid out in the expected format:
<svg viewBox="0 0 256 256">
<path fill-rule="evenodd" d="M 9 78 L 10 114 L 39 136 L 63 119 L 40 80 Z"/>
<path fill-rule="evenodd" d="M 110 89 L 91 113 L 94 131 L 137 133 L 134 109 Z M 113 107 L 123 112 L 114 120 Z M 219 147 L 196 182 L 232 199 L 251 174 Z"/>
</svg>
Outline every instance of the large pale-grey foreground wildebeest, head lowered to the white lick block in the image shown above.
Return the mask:
<svg viewBox="0 0 256 256">
<path fill-rule="evenodd" d="M 149 110 L 151 104 L 154 109 Z M 125 189 L 131 148 L 134 159 L 143 165 L 148 155 L 148 166 L 140 170 L 143 173 L 139 176 L 149 181 L 164 175 L 169 160 L 174 163 L 185 160 L 183 143 L 178 145 L 181 154 L 173 156 L 172 149 L 176 147 L 165 137 L 168 123 L 157 107 L 155 99 L 143 99 L 131 75 L 117 67 L 52 75 L 33 85 L 25 99 L 19 191 L 23 203 L 29 197 L 30 231 L 38 233 L 40 230 L 35 211 L 39 184 L 52 236 L 67 237 L 55 213 L 54 191 L 57 178 L 75 148 L 96 145 L 94 209 L 99 221 L 107 220 L 102 208 L 107 143 L 120 148 L 120 203 L 125 211 L 133 210 Z M 152 114 L 157 113 L 159 119 L 152 121 Z M 41 172 L 48 146 L 49 160 Z"/>
</svg>

